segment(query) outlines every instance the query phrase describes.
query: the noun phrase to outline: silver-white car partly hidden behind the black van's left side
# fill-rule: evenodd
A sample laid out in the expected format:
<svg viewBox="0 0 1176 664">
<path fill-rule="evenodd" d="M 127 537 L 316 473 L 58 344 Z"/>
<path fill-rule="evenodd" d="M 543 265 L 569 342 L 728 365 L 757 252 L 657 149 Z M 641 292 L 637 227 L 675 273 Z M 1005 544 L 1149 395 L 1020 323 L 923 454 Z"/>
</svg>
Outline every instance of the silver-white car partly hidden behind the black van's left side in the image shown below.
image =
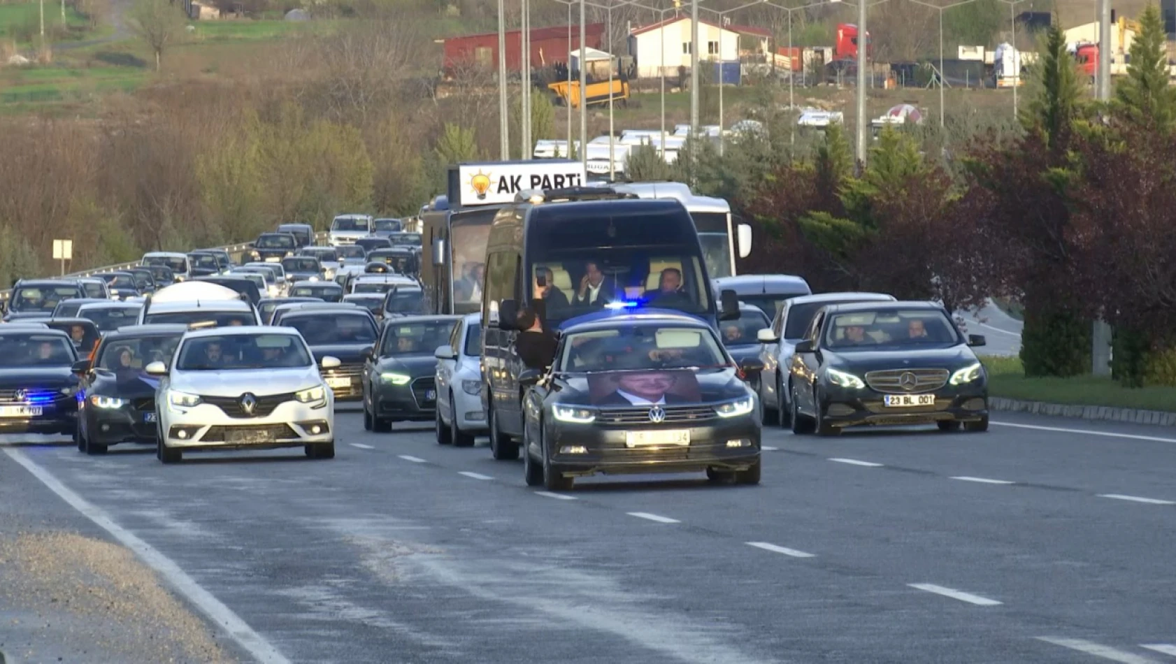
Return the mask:
<svg viewBox="0 0 1176 664">
<path fill-rule="evenodd" d="M 449 344 L 437 357 L 437 443 L 459 448 L 474 444 L 474 436 L 488 431 L 482 408 L 482 315 L 468 314 L 454 326 Z"/>
</svg>

